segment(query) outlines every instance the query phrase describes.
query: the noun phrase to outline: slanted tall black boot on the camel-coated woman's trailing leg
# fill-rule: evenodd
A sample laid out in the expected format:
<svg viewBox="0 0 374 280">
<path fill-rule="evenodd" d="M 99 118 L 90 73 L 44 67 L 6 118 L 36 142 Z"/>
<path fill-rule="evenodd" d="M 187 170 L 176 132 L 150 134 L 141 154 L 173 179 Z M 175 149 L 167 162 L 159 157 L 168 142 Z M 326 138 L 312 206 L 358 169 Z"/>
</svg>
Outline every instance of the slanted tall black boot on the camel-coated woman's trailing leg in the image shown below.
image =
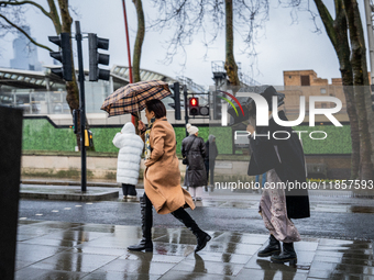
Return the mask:
<svg viewBox="0 0 374 280">
<path fill-rule="evenodd" d="M 193 234 L 197 238 L 197 246 L 195 251 L 202 250 L 207 243 L 211 239 L 210 235 L 206 232 L 201 231 L 200 227 L 196 224 L 196 222 L 191 219 L 191 216 L 183 209 L 172 212 L 172 215 L 178 219 L 185 226 L 193 232 Z"/>
</svg>

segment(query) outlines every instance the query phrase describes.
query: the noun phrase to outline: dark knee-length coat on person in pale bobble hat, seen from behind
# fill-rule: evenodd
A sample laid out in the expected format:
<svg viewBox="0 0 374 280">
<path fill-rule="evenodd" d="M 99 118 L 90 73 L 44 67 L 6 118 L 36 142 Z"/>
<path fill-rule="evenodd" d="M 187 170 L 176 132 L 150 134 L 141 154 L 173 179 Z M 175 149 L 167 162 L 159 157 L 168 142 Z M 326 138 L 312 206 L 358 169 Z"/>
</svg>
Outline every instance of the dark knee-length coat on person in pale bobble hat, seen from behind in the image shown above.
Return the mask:
<svg viewBox="0 0 374 280">
<path fill-rule="evenodd" d="M 182 142 L 182 155 L 188 159 L 185 186 L 206 186 L 207 171 L 204 164 L 204 158 L 206 157 L 206 145 L 204 139 L 201 137 L 197 137 L 196 135 L 189 135 L 188 137 L 184 138 Z"/>
</svg>

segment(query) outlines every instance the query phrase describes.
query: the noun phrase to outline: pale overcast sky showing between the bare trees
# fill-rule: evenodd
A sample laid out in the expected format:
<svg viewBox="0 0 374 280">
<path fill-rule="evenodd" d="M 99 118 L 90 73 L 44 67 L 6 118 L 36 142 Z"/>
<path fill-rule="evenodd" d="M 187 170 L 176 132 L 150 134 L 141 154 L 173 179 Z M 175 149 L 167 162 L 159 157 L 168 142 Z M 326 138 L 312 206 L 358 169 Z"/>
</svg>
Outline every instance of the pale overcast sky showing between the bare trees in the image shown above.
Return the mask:
<svg viewBox="0 0 374 280">
<path fill-rule="evenodd" d="M 38 0 L 37 2 L 46 7 L 45 0 Z M 74 20 L 80 21 L 82 32 L 97 33 L 98 36 L 110 40 L 110 65 L 128 66 L 122 0 L 70 0 L 69 2 L 79 13 L 78 16 L 73 13 L 72 15 Z M 298 23 L 292 24 L 289 10 L 277 7 L 277 1 L 273 2 L 270 21 L 265 23 L 265 33 L 256 46 L 258 59 L 251 77 L 261 83 L 275 86 L 283 85 L 284 70 L 314 69 L 318 77 L 328 78 L 329 82 L 331 82 L 331 78 L 339 78 L 337 55 L 326 35 L 321 21 L 318 19 L 317 22 L 322 33 L 314 33 L 315 25 L 308 13 L 299 12 Z M 329 0 L 328 2 L 332 1 Z M 359 3 L 362 5 L 363 1 L 359 1 Z M 148 5 L 148 1 L 143 0 L 145 20 L 150 14 L 154 14 L 154 10 L 150 9 Z M 131 48 L 133 48 L 136 15 L 131 0 L 127 0 L 127 9 L 130 44 Z M 30 23 L 32 36 L 57 51 L 56 46 L 50 44 L 47 40 L 48 35 L 55 35 L 52 22 L 33 8 L 29 9 L 26 20 Z M 362 20 L 364 21 L 363 16 Z M 75 31 L 75 25 L 73 25 L 73 31 Z M 206 59 L 204 59 L 206 48 L 202 44 L 202 36 L 197 35 L 194 43 L 186 47 L 187 64 L 185 69 L 180 66 L 185 60 L 182 53 L 175 56 L 173 64 L 165 65 L 162 63 L 166 53 L 164 42 L 170 35 L 170 31 L 164 31 L 163 33 L 147 32 L 145 34 L 141 68 L 158 71 L 173 78 L 186 76 L 202 86 L 212 85 L 211 61 L 224 60 L 224 32 L 222 31 L 217 42 L 209 46 Z M 251 74 L 250 59 L 241 52 L 241 49 L 244 49 L 244 44 L 239 34 L 235 34 L 234 38 L 235 59 L 241 63 L 244 74 Z M 0 66 L 9 67 L 9 60 L 13 58 L 12 40 L 13 36 L 9 35 L 1 42 Z M 38 48 L 37 52 L 40 61 L 44 65 L 52 64 L 52 58 L 50 58 L 47 51 Z M 84 53 L 85 66 L 87 66 L 87 40 L 84 43 Z"/>
</svg>

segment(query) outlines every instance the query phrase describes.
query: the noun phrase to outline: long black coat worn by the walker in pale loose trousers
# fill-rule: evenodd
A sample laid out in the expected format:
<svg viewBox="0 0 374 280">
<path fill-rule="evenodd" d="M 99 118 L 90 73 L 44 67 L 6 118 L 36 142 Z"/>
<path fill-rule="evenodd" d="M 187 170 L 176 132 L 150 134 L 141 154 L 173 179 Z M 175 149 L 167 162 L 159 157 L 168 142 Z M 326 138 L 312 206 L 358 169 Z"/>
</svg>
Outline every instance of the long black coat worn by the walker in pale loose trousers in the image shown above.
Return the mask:
<svg viewBox="0 0 374 280">
<path fill-rule="evenodd" d="M 284 111 L 279 111 L 278 115 L 280 120 L 287 121 Z M 290 137 L 288 139 L 275 139 L 273 138 L 275 131 L 286 131 L 290 134 Z M 273 117 L 268 121 L 268 126 L 256 127 L 256 135 L 267 135 L 267 133 L 270 133 L 270 139 L 267 139 L 267 136 L 256 136 L 255 139 L 250 137 L 252 155 L 248 173 L 250 176 L 261 175 L 274 168 L 279 179 L 285 183 L 306 182 L 305 157 L 298 134 L 293 133 L 292 127 L 278 125 Z M 285 133 L 276 134 L 276 137 L 286 136 Z M 309 217 L 308 190 L 288 190 L 286 184 L 285 192 L 288 217 Z"/>
</svg>

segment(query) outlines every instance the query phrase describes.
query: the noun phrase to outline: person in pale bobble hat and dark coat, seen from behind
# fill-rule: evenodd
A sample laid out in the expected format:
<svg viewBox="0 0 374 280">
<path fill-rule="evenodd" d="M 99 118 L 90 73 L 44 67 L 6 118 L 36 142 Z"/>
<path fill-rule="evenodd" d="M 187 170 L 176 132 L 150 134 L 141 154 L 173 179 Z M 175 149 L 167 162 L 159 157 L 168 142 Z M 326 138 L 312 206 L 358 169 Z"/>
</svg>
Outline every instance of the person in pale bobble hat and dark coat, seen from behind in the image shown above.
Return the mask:
<svg viewBox="0 0 374 280">
<path fill-rule="evenodd" d="M 187 124 L 189 136 L 182 142 L 182 156 L 187 158 L 185 186 L 195 200 L 201 200 L 202 188 L 207 183 L 207 172 L 204 164 L 206 157 L 206 145 L 201 137 L 198 137 L 199 128 Z"/>
</svg>

